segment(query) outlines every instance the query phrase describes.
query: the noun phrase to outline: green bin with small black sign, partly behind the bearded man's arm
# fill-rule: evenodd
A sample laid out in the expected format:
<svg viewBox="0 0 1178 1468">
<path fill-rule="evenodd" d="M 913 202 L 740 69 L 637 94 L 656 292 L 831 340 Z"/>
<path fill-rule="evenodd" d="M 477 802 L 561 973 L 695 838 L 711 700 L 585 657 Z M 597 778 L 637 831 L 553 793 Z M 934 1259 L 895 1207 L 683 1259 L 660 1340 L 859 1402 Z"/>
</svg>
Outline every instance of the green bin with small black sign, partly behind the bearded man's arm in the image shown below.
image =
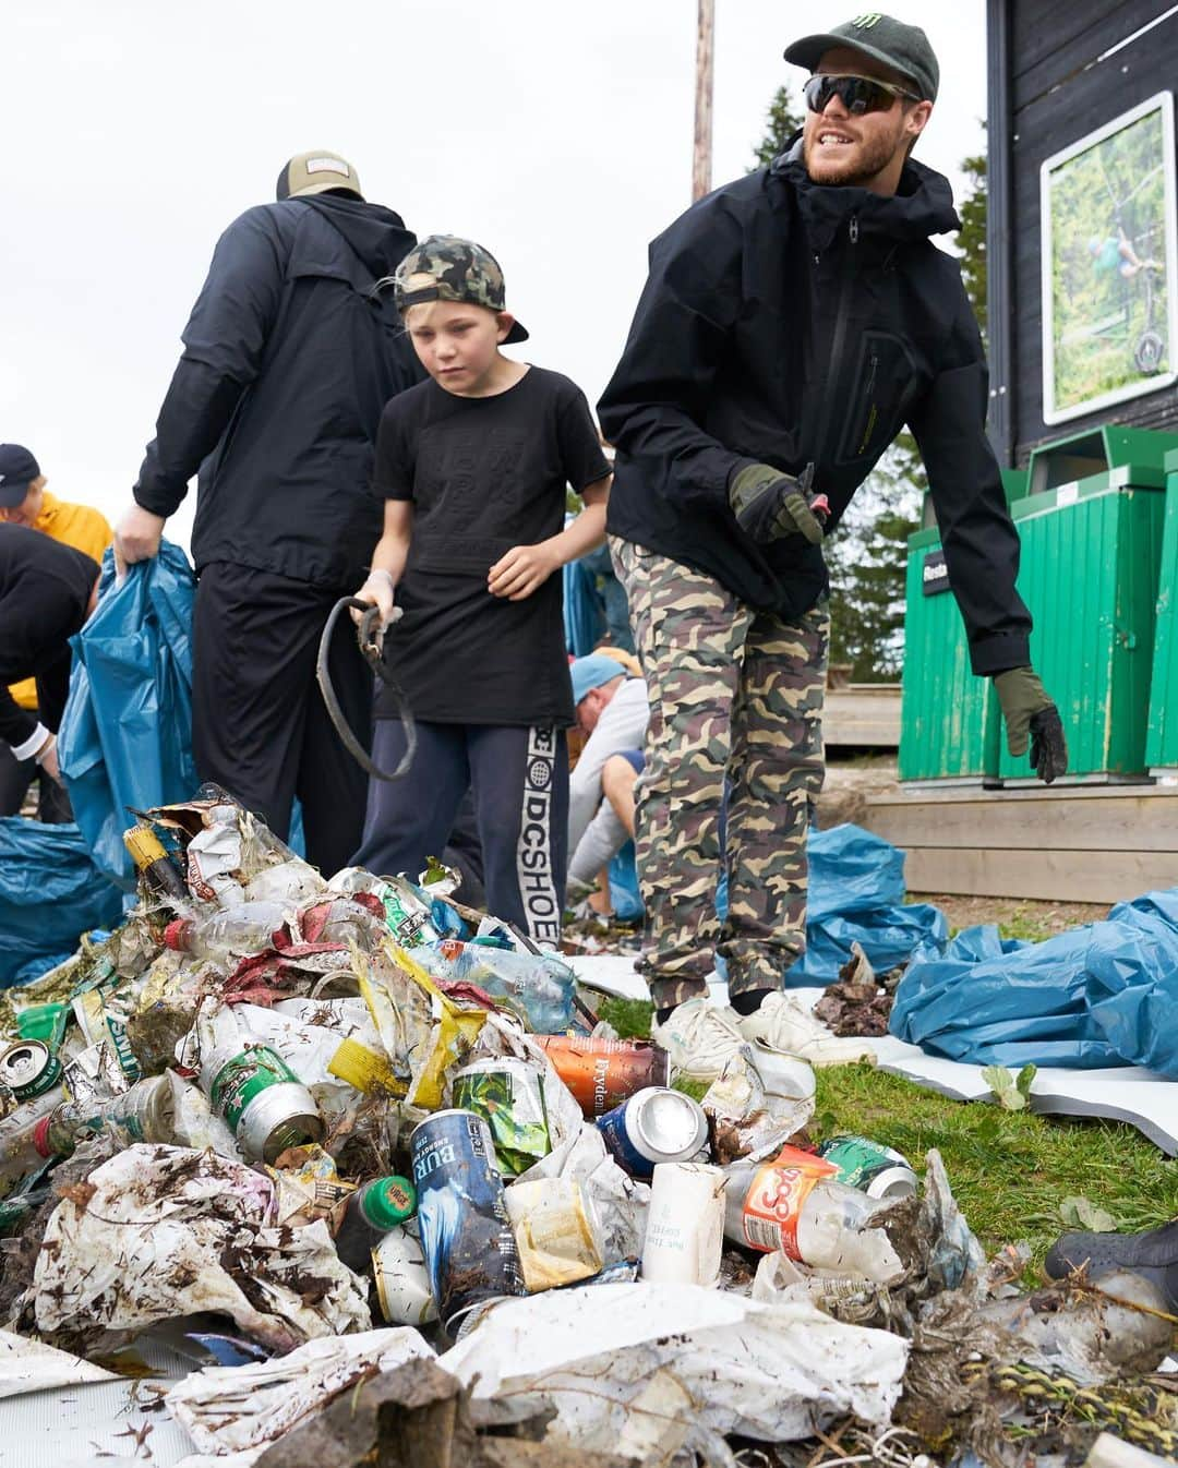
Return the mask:
<svg viewBox="0 0 1178 1468">
<path fill-rule="evenodd" d="M 969 671 L 958 599 L 940 533 L 908 537 L 899 775 L 981 784 L 997 774 L 997 705 L 989 678 Z"/>
</svg>

